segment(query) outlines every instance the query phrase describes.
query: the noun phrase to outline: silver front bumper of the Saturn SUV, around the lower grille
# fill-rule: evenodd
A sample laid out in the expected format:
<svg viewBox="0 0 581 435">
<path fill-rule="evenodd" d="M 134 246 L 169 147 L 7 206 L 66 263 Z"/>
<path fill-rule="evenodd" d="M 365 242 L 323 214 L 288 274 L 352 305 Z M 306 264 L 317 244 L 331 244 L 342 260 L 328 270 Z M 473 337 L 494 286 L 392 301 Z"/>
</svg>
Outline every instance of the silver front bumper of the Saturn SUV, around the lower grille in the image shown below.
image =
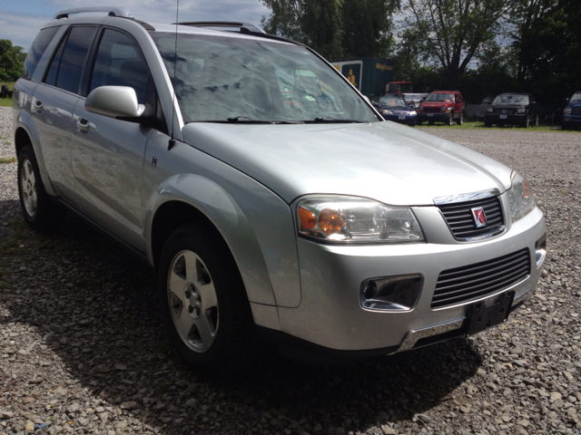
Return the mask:
<svg viewBox="0 0 581 435">
<path fill-rule="evenodd" d="M 428 243 L 346 247 L 299 239 L 301 303 L 297 308 L 279 307 L 281 332 L 331 351 L 394 353 L 465 334 L 476 301 L 514 290 L 512 306 L 516 307 L 533 295 L 542 268 L 542 264 L 537 267 L 535 245 L 546 231 L 538 208 L 508 223 L 499 237 L 473 243 L 456 241 L 438 208 L 414 208 L 414 213 Z M 465 303 L 430 307 L 440 272 L 525 247 L 531 268 L 520 282 Z M 359 289 L 366 279 L 412 274 L 422 275 L 423 285 L 411 310 L 373 311 L 361 306 Z M 435 339 L 430 342 L 429 337 Z"/>
</svg>

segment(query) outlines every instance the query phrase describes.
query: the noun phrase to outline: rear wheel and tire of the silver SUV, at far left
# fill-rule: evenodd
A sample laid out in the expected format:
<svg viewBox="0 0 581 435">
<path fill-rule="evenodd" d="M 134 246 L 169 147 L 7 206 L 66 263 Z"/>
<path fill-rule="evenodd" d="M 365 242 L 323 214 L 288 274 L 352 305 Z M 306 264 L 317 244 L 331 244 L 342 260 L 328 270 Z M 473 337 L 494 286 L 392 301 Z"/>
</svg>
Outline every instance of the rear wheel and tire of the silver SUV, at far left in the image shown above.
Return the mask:
<svg viewBox="0 0 581 435">
<path fill-rule="evenodd" d="M 18 154 L 18 197 L 25 221 L 36 231 L 60 227 L 66 208 L 56 204 L 44 189 L 32 145 L 25 145 Z"/>
</svg>

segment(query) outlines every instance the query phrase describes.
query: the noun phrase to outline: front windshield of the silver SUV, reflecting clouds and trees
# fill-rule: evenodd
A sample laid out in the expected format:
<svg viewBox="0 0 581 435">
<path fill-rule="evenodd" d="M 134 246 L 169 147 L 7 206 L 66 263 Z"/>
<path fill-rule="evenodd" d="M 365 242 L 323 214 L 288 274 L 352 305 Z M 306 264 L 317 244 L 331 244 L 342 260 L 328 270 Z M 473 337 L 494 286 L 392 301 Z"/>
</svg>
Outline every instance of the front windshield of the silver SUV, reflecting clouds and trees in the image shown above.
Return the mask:
<svg viewBox="0 0 581 435">
<path fill-rule="evenodd" d="M 152 34 L 186 122 L 378 121 L 347 82 L 304 47 L 230 36 Z"/>
</svg>

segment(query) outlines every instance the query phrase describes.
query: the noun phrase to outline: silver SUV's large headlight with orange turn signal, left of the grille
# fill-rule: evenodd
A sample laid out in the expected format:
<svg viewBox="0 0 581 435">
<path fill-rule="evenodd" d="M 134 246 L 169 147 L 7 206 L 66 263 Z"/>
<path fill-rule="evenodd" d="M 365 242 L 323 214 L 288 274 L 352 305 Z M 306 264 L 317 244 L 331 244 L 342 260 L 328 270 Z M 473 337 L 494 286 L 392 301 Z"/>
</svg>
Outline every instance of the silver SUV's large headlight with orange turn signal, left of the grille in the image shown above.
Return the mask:
<svg viewBox="0 0 581 435">
<path fill-rule="evenodd" d="M 330 242 L 385 243 L 424 240 L 409 208 L 371 199 L 311 197 L 297 207 L 299 234 Z"/>
</svg>

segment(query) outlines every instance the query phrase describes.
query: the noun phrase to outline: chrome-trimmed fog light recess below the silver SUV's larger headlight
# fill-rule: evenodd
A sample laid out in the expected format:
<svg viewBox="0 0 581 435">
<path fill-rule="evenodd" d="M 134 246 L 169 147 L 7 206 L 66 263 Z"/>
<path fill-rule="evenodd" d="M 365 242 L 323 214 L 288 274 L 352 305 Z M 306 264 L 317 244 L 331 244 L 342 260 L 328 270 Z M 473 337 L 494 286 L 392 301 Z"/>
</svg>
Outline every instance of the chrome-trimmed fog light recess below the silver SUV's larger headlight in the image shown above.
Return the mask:
<svg viewBox="0 0 581 435">
<path fill-rule="evenodd" d="M 361 283 L 359 301 L 369 310 L 409 311 L 418 302 L 421 284 L 419 274 L 366 279 Z"/>
</svg>

